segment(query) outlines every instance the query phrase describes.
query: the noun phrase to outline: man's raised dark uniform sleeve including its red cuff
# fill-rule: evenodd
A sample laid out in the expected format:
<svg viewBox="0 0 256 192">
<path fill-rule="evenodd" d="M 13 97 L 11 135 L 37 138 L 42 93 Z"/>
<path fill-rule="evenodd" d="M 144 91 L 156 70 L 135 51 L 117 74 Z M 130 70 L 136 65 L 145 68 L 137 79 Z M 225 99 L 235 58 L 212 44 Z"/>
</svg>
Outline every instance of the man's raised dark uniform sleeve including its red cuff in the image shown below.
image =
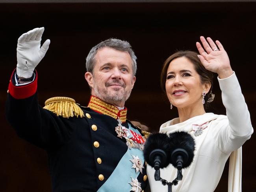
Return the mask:
<svg viewBox="0 0 256 192">
<path fill-rule="evenodd" d="M 12 75 L 6 117 L 17 135 L 45 150 L 64 144 L 72 132 L 72 119 L 58 117 L 38 104 L 37 74 L 35 81 L 24 86 L 15 86 L 13 78 Z"/>
</svg>

